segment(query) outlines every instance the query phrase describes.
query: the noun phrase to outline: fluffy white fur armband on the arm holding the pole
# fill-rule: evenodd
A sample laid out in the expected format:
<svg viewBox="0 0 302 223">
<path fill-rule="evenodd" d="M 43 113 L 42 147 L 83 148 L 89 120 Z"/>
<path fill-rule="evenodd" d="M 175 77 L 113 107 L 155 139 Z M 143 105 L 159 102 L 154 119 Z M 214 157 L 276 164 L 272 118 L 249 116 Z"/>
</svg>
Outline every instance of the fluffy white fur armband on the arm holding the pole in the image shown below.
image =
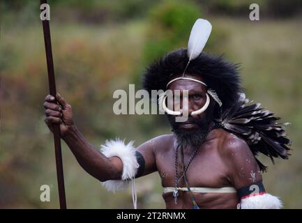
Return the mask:
<svg viewBox="0 0 302 223">
<path fill-rule="evenodd" d="M 100 151 L 106 157 L 117 156 L 123 162 L 121 180 L 107 180 L 102 182 L 102 185 L 112 192 L 123 190 L 128 185 L 128 181 L 135 178 L 135 174 L 139 167 L 135 156 L 133 141 L 130 141 L 127 145 L 125 144 L 125 141 L 120 139 L 105 141 L 105 145 L 100 147 Z"/>
</svg>

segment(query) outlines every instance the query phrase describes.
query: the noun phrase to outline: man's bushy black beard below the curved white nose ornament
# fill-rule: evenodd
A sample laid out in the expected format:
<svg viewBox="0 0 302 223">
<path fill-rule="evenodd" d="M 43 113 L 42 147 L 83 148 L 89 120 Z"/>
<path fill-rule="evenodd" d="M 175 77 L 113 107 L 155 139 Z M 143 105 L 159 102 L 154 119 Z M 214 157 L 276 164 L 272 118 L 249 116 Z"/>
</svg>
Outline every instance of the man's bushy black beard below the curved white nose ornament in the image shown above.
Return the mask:
<svg viewBox="0 0 302 223">
<path fill-rule="evenodd" d="M 188 121 L 197 124 L 197 128 L 194 130 L 183 130 L 179 128 L 181 122 L 175 121 L 175 116 L 167 115 L 168 121 L 172 126 L 172 131 L 176 135 L 177 142 L 182 148 L 186 146 L 192 146 L 192 148 L 199 148 L 206 141 L 206 137 L 211 131 L 211 125 L 213 123 L 213 112 L 207 109 L 206 115 L 203 118 L 188 117 Z"/>
</svg>

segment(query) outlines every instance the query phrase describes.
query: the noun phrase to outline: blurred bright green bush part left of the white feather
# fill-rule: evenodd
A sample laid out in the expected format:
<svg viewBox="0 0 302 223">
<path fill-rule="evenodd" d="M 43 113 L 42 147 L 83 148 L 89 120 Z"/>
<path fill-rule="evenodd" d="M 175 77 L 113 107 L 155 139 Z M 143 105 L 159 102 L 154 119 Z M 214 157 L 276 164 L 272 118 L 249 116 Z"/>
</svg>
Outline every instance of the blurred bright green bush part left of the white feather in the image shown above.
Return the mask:
<svg viewBox="0 0 302 223">
<path fill-rule="evenodd" d="M 153 8 L 149 15 L 144 57 L 147 63 L 186 45 L 192 24 L 202 13 L 194 3 L 165 1 Z"/>
</svg>

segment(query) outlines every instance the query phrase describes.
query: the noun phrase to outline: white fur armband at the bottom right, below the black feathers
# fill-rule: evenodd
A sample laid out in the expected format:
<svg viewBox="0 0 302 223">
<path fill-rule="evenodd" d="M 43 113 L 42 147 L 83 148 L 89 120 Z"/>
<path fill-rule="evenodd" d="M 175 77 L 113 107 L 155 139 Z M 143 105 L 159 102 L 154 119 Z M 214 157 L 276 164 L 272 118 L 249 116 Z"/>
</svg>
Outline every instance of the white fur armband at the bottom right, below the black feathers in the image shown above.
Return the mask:
<svg viewBox="0 0 302 223">
<path fill-rule="evenodd" d="M 282 208 L 282 201 L 278 197 L 271 194 L 260 193 L 252 194 L 246 198 L 241 199 L 241 209 L 280 209 Z"/>
</svg>

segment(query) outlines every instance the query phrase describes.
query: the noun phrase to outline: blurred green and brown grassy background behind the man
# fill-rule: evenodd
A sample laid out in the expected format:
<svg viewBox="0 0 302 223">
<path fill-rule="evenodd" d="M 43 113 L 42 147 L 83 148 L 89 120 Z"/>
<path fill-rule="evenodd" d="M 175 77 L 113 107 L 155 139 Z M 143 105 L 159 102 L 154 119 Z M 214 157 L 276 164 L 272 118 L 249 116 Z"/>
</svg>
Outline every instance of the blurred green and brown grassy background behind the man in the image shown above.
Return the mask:
<svg viewBox="0 0 302 223">
<path fill-rule="evenodd" d="M 112 112 L 112 93 L 139 82 L 144 67 L 186 47 L 198 17 L 213 24 L 204 51 L 241 63 L 246 95 L 289 121 L 289 160 L 269 171 L 266 190 L 302 208 L 301 0 L 160 1 L 50 0 L 57 91 L 73 106 L 78 128 L 96 148 L 105 139 L 135 146 L 170 132 L 163 116 Z M 58 208 L 52 134 L 44 119 L 48 93 L 40 1 L 0 1 L 0 208 Z M 258 3 L 260 21 L 249 20 Z M 130 189 L 112 194 L 77 164 L 66 144 L 63 165 L 68 208 L 132 208 Z M 50 202 L 40 185 L 50 185 Z M 165 208 L 158 174 L 137 180 L 139 208 Z"/>
</svg>

